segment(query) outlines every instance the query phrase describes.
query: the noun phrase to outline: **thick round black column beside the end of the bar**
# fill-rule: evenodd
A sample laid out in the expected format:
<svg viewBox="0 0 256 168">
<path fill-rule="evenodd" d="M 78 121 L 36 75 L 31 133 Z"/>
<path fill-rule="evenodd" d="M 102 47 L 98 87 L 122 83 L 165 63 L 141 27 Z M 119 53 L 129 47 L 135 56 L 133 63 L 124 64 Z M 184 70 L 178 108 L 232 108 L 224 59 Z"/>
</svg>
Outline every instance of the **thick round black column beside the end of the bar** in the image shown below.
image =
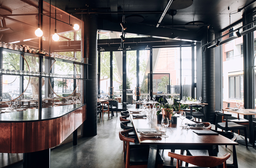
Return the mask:
<svg viewBox="0 0 256 168">
<path fill-rule="evenodd" d="M 97 135 L 97 15 L 83 14 L 84 21 L 84 58 L 88 57 L 88 78 L 85 82 L 86 120 L 83 124 L 83 136 Z"/>
</svg>

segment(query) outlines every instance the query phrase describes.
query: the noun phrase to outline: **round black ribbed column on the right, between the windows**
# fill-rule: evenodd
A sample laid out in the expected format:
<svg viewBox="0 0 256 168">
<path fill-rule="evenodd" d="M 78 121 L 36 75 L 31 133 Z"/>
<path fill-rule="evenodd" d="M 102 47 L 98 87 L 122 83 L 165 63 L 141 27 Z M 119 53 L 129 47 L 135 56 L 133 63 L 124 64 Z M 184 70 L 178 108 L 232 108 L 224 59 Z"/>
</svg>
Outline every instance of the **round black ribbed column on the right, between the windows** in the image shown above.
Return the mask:
<svg viewBox="0 0 256 168">
<path fill-rule="evenodd" d="M 208 30 L 208 41 L 214 40 L 214 31 Z M 207 43 L 207 34 L 201 40 L 201 44 Z M 214 42 L 213 42 L 214 43 Z M 201 48 L 203 49 L 203 48 Z M 201 95 L 202 102 L 208 103 L 205 105 L 205 121 L 213 123 L 215 117 L 215 54 L 214 48 L 207 48 L 205 52 L 201 50 L 201 73 L 202 87 Z"/>
</svg>

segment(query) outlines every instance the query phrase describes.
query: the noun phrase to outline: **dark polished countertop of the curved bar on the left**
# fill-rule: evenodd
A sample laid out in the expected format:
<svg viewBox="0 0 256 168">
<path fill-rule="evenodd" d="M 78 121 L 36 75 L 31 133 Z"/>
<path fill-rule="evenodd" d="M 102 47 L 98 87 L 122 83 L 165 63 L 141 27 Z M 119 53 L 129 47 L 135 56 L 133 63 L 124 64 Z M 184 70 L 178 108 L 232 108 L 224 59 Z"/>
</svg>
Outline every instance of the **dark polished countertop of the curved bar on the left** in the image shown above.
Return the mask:
<svg viewBox="0 0 256 168">
<path fill-rule="evenodd" d="M 85 104 L 84 104 L 85 105 Z M 78 108 L 81 105 L 72 104 L 72 105 L 63 105 L 63 106 L 55 106 L 51 108 L 41 109 L 27 109 L 26 111 L 14 111 L 14 112 L 6 112 L 0 114 L 0 122 L 33 122 L 33 121 L 44 121 L 44 120 L 52 120 L 56 118 L 60 118 Z M 41 113 L 41 115 L 39 115 Z"/>
</svg>

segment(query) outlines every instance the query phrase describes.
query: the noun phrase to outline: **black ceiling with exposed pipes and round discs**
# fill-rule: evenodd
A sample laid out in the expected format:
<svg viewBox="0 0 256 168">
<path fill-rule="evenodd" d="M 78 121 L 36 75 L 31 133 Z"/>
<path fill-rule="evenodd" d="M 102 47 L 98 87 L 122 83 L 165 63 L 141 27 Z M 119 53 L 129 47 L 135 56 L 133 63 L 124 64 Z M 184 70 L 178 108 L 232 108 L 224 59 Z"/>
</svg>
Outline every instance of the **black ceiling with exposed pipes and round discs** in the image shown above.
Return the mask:
<svg viewBox="0 0 256 168">
<path fill-rule="evenodd" d="M 186 1 L 186 0 L 175 0 L 175 1 Z M 177 10 L 177 14 L 174 16 L 174 25 L 184 25 L 191 21 L 202 21 L 204 24 L 210 24 L 210 27 L 217 32 L 227 28 L 229 26 L 229 14 L 237 12 L 239 8 L 242 8 L 253 2 L 254 0 L 193 0 L 193 4 L 185 9 Z M 46 0 L 50 2 L 50 0 Z M 51 0 L 51 3 L 55 5 L 55 1 Z M 124 8 L 123 8 L 124 3 Z M 172 17 L 166 14 L 161 22 L 161 25 L 156 28 L 157 22 L 161 17 L 161 13 L 154 13 L 163 11 L 166 7 L 168 0 L 57 0 L 57 8 L 60 8 L 68 13 L 73 13 L 74 16 L 80 17 L 80 12 L 104 12 L 99 13 L 98 16 L 103 21 L 104 30 L 109 31 L 121 31 L 117 24 L 122 21 L 121 12 L 142 12 L 148 11 L 152 13 L 136 14 L 143 17 L 142 22 L 139 23 L 127 23 L 128 29 L 126 32 L 141 34 L 143 31 L 136 32 L 136 29 L 149 28 L 145 35 L 150 36 L 163 36 L 168 37 L 171 35 L 172 27 L 163 27 L 164 25 L 172 25 Z M 230 8 L 228 10 L 228 7 Z M 231 25 L 242 19 L 243 12 L 251 11 L 256 7 L 256 3 L 253 3 L 241 12 L 231 15 Z M 172 8 L 172 4 L 171 7 Z M 76 10 L 75 10 L 76 9 Z M 80 10 L 84 9 L 84 10 Z M 169 9 L 170 10 L 170 9 Z M 107 12 L 117 12 L 120 14 L 108 14 Z M 167 12 L 168 13 L 168 12 Z M 129 17 L 133 14 L 126 14 Z M 132 20 L 132 19 L 130 19 Z M 108 24 L 108 25 L 106 25 Z M 130 30 L 129 30 L 130 27 Z M 133 28 L 135 27 L 135 28 Z M 175 34 L 179 35 L 183 39 L 198 40 L 200 37 L 200 32 L 203 31 L 200 27 L 195 29 L 188 29 L 185 27 L 174 27 Z M 170 33 L 167 33 L 169 32 Z M 165 32 L 162 33 L 161 32 Z M 147 33 L 147 34 L 146 34 Z M 188 34 L 184 36 L 185 34 Z M 189 35 L 192 34 L 192 35 Z"/>
</svg>

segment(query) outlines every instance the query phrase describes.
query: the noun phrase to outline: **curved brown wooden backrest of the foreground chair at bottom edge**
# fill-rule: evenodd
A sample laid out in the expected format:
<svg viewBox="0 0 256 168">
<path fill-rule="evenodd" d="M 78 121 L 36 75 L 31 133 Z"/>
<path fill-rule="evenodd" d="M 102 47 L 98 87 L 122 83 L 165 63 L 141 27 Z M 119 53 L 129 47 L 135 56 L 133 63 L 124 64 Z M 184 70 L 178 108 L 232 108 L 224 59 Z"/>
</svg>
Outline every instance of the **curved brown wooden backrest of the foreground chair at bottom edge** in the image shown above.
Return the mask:
<svg viewBox="0 0 256 168">
<path fill-rule="evenodd" d="M 173 152 L 168 152 L 168 156 L 177 159 L 176 168 L 180 168 L 180 160 L 200 167 L 216 167 L 223 163 L 223 168 L 227 168 L 226 160 L 230 157 L 230 153 L 226 153 L 221 157 L 215 156 L 185 156 Z"/>
</svg>

